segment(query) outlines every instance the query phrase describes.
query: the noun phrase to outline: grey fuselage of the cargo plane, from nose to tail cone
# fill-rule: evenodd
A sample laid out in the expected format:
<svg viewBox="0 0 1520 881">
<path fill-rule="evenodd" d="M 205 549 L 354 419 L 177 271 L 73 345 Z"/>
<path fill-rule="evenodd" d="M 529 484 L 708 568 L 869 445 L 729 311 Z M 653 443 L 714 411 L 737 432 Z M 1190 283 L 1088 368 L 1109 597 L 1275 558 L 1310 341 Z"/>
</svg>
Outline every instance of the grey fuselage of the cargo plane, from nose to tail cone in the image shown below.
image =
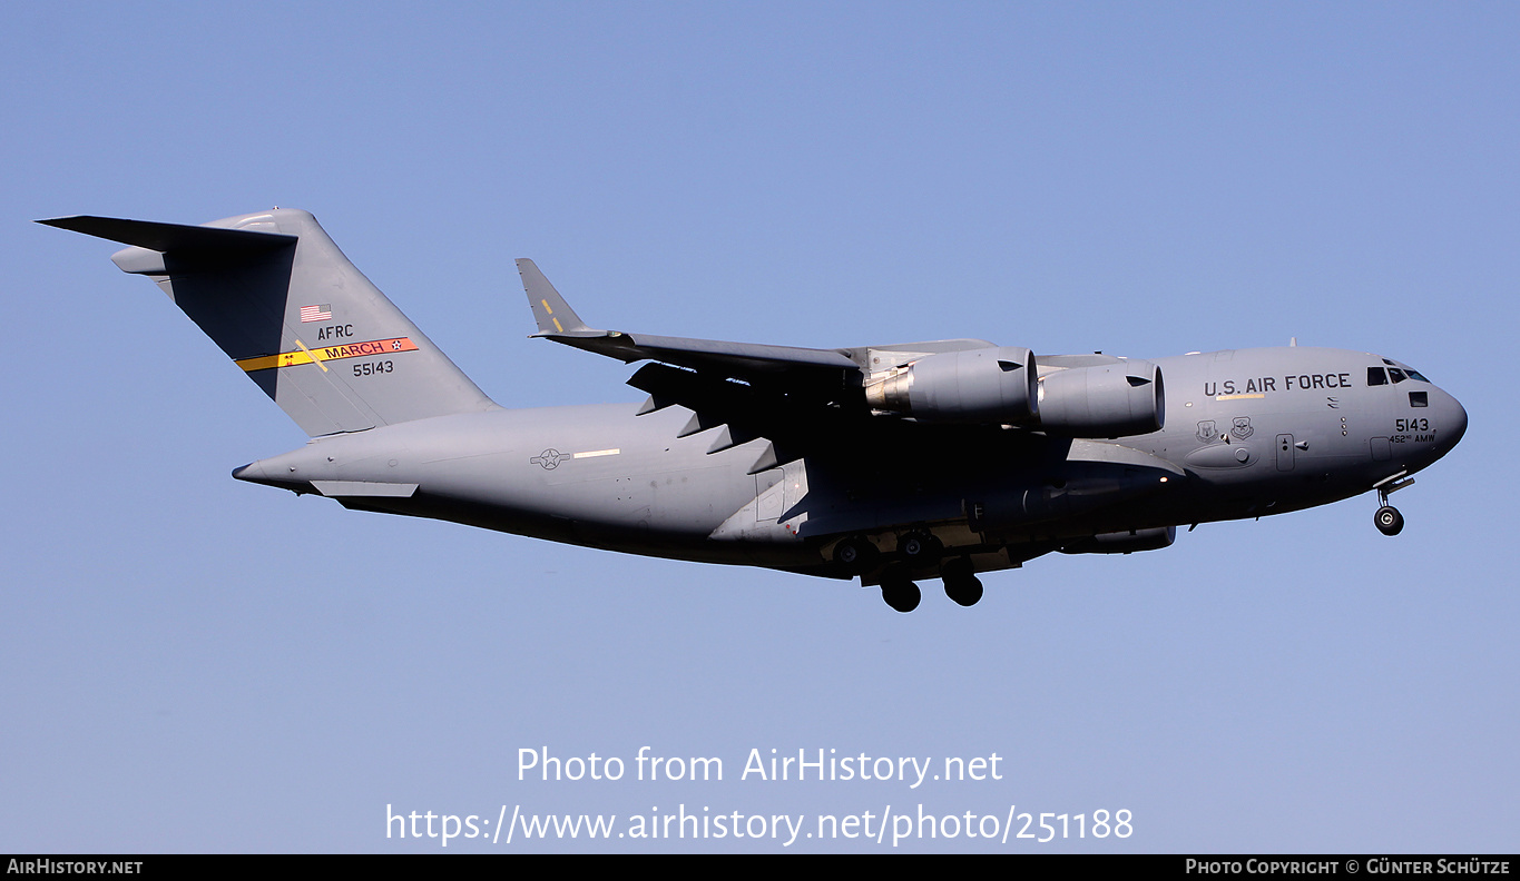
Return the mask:
<svg viewBox="0 0 1520 881">
<path fill-rule="evenodd" d="M 882 415 L 906 428 L 888 448 L 838 437 L 757 469 L 763 439 L 710 453 L 716 430 L 678 436 L 684 407 L 603 404 L 418 419 L 315 439 L 234 474 L 354 509 L 821 576 L 844 574 L 828 553 L 844 536 L 891 557 L 903 535 L 932 533 L 990 571 L 1093 536 L 1359 495 L 1430 465 L 1467 428 L 1455 398 L 1366 352 L 1294 346 L 1154 363 L 1166 377 L 1164 427 L 1117 439 L 915 428 Z"/>
</svg>

